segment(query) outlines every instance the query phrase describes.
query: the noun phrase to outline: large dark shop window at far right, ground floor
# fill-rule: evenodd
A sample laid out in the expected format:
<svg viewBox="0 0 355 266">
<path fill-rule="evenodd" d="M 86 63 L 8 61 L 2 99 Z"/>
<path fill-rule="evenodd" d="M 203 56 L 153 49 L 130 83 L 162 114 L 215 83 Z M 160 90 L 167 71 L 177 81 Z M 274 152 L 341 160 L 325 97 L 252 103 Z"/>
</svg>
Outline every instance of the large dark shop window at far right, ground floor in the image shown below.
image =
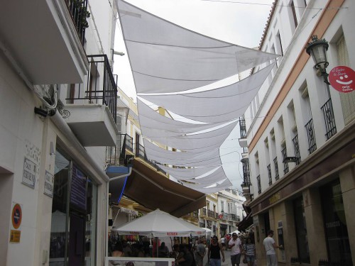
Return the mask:
<svg viewBox="0 0 355 266">
<path fill-rule="evenodd" d="M 346 226 L 342 188 L 340 181 L 321 188 L 324 229 L 329 262 L 352 265 L 349 236 Z"/>
</svg>

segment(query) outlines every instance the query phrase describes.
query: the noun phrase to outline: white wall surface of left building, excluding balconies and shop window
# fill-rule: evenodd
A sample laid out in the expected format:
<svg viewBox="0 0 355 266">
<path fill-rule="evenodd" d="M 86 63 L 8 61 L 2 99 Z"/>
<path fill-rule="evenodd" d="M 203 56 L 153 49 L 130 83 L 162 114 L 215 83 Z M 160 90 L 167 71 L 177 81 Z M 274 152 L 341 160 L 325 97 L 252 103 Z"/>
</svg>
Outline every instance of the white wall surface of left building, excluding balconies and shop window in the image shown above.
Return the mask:
<svg viewBox="0 0 355 266">
<path fill-rule="evenodd" d="M 90 1 L 89 28 L 87 30 L 87 55 L 109 54 L 113 31 L 114 13 L 106 1 Z M 26 45 L 31 45 L 29 42 Z M 35 60 L 35 58 L 33 58 Z M 48 67 L 55 62 L 48 62 Z M 65 102 L 67 85 L 62 84 L 60 97 Z M 75 160 L 85 174 L 92 177 L 98 186 L 96 257 L 92 265 L 103 265 L 106 246 L 106 199 L 107 176 L 104 173 L 104 148 L 78 150 L 78 140 L 65 133 L 62 124 L 49 116 L 43 118 L 33 112 L 34 106 L 41 102 L 26 87 L 23 79 L 13 70 L 11 64 L 0 52 L 0 199 L 1 199 L 1 237 L 0 265 L 49 265 L 50 231 L 52 221 L 52 198 L 43 194 L 45 172 L 54 174 L 55 154 L 52 150 L 60 147 Z M 35 185 L 23 184 L 24 160 L 27 158 L 35 165 Z M 91 158 L 91 160 L 88 160 Z M 97 164 L 92 165 L 92 161 Z M 19 243 L 10 243 L 11 212 L 14 204 L 22 209 Z"/>
</svg>

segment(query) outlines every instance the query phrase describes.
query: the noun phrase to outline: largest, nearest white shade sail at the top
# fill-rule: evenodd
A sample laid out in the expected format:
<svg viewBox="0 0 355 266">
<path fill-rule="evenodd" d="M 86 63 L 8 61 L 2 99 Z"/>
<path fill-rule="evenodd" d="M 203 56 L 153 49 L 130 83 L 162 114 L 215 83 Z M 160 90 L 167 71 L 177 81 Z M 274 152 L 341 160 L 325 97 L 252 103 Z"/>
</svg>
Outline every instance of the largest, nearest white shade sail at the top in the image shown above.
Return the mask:
<svg viewBox="0 0 355 266">
<path fill-rule="evenodd" d="M 181 92 L 217 82 L 275 59 L 182 28 L 117 0 L 136 92 Z"/>
</svg>

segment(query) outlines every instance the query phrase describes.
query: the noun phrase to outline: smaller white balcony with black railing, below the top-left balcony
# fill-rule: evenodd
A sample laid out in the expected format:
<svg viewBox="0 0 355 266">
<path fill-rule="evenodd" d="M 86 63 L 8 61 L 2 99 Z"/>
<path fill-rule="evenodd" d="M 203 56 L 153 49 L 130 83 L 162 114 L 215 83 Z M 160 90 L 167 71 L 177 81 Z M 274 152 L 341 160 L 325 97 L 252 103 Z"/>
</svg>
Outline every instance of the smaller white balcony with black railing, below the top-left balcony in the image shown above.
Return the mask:
<svg viewBox="0 0 355 266">
<path fill-rule="evenodd" d="M 107 55 L 89 55 L 84 83 L 71 84 L 65 121 L 84 147 L 116 146 L 117 89 Z"/>
</svg>

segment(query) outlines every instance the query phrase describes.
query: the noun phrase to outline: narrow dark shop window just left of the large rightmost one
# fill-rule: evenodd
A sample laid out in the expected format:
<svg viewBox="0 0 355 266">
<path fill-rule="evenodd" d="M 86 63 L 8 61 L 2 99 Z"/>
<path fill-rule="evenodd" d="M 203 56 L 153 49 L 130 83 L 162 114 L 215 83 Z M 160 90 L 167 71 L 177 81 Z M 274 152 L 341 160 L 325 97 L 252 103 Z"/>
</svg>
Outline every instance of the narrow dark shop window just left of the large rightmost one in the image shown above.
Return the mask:
<svg viewBox="0 0 355 266">
<path fill-rule="evenodd" d="M 308 247 L 305 208 L 303 207 L 302 196 L 293 201 L 293 209 L 295 211 L 298 261 L 310 263 L 310 250 Z"/>
</svg>

